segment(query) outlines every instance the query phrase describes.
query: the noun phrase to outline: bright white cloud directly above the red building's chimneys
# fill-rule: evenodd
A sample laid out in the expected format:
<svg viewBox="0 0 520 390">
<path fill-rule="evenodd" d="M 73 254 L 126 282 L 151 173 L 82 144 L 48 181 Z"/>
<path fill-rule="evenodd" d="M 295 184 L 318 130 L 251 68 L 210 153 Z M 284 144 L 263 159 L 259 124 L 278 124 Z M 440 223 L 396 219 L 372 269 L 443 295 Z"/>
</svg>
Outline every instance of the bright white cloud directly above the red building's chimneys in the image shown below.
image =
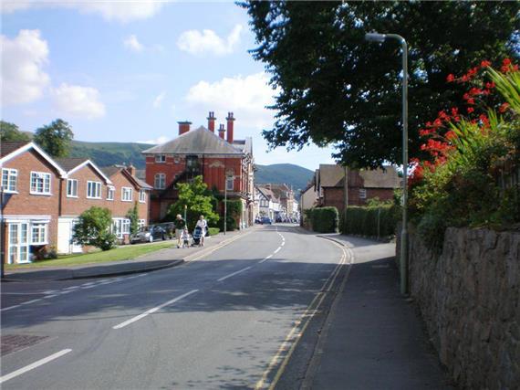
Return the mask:
<svg viewBox="0 0 520 390">
<path fill-rule="evenodd" d="M 273 104 L 274 90 L 268 85 L 264 72 L 249 76 L 235 76 L 210 83 L 199 81 L 192 86 L 185 97 L 196 111 L 219 111 L 224 116 L 234 111 L 240 125 L 256 129 L 270 127 L 273 114 L 265 106 Z M 218 117 L 218 113 L 217 113 Z M 219 118 L 224 121 L 224 117 Z"/>
</svg>

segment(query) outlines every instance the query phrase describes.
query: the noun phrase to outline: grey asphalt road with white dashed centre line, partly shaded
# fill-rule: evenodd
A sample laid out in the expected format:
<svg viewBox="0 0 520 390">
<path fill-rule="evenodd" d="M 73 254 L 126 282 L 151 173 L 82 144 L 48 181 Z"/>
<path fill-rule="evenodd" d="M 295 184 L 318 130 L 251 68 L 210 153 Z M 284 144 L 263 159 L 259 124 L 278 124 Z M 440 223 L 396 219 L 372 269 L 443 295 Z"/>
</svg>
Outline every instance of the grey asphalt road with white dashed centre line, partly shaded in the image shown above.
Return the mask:
<svg viewBox="0 0 520 390">
<path fill-rule="evenodd" d="M 266 387 L 340 261 L 328 240 L 261 227 L 173 269 L 4 283 L 2 335 L 20 346 L 2 388 Z"/>
</svg>

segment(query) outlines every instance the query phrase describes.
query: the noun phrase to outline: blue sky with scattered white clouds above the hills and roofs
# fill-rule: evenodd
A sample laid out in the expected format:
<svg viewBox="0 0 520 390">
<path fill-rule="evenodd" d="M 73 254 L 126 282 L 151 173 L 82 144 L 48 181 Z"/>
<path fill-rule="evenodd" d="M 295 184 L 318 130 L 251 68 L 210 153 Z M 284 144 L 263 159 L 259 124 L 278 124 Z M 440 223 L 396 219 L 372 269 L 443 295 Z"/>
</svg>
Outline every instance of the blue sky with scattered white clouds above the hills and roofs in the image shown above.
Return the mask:
<svg viewBox="0 0 520 390">
<path fill-rule="evenodd" d="M 233 111 L 255 163 L 332 163 L 316 146 L 266 153 L 275 92 L 233 2 L 2 0 L 1 17 L 1 117 L 23 131 L 61 118 L 78 141 L 161 143 Z"/>
</svg>

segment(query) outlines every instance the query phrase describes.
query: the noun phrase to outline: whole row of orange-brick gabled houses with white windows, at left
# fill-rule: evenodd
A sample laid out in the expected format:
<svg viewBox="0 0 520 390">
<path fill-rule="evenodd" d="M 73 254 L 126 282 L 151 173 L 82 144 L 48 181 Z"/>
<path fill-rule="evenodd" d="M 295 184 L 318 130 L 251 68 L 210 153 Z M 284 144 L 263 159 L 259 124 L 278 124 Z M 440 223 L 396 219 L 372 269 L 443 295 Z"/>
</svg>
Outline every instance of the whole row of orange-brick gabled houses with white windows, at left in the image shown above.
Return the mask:
<svg viewBox="0 0 520 390">
<path fill-rule="evenodd" d="M 2 142 L 0 166 L 5 262 L 29 262 L 50 249 L 82 251 L 70 240 L 78 216 L 91 206 L 109 208 L 122 242 L 134 202 L 140 224 L 148 223 L 151 186 L 131 166 L 101 170 L 88 159 L 52 159 L 33 142 Z"/>
</svg>

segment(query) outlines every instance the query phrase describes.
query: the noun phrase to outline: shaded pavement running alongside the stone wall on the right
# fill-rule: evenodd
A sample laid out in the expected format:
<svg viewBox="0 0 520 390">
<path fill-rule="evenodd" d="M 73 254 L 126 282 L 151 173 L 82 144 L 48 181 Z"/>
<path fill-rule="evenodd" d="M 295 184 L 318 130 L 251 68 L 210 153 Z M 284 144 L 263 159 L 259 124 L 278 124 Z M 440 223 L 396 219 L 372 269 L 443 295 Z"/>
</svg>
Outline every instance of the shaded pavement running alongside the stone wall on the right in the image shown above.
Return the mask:
<svg viewBox="0 0 520 390">
<path fill-rule="evenodd" d="M 354 255 L 303 388 L 450 389 L 413 305 L 400 295 L 395 244 L 330 235 Z"/>
</svg>

